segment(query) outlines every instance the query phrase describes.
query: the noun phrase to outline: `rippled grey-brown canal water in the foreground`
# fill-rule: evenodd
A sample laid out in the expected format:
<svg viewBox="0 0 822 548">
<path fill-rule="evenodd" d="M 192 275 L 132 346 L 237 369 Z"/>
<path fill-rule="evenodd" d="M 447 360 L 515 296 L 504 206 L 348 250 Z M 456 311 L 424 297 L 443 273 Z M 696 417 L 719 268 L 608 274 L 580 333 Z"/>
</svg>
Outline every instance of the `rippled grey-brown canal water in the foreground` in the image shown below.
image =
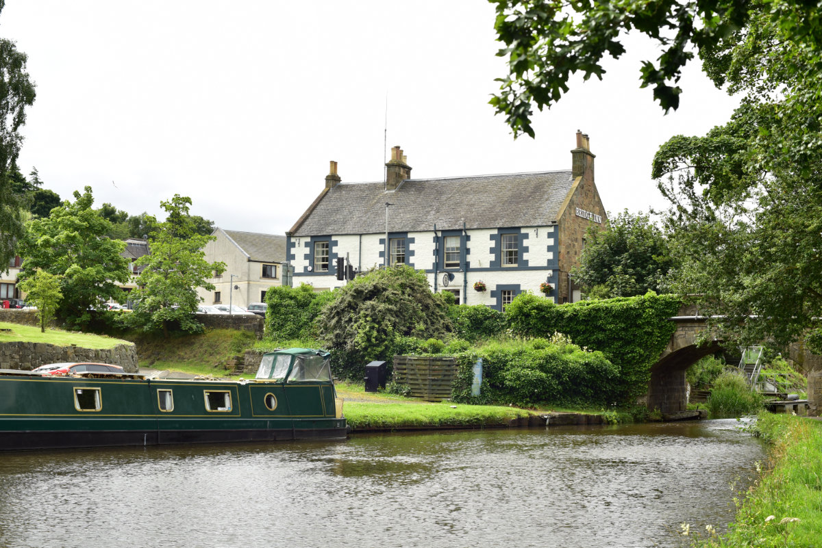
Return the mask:
<svg viewBox="0 0 822 548">
<path fill-rule="evenodd" d="M 0 454 L 0 546 L 683 546 L 764 458 L 733 420 Z"/>
</svg>

